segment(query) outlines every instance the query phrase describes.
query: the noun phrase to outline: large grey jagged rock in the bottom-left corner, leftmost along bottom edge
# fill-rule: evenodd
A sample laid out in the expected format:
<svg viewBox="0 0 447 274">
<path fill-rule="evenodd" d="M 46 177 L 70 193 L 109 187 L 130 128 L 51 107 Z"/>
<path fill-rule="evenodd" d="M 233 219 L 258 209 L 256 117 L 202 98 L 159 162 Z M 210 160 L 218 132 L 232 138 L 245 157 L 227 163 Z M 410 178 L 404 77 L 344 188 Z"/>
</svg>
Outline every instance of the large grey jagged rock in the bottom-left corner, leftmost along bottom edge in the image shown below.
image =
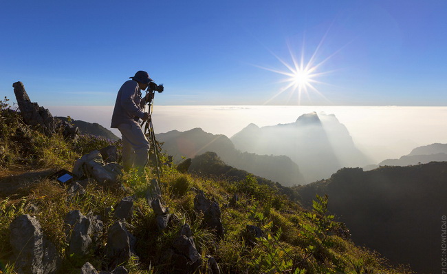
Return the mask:
<svg viewBox="0 0 447 274">
<path fill-rule="evenodd" d="M 11 222 L 10 244 L 18 273 L 53 274 L 58 271 L 61 258 L 54 244 L 44 237 L 35 217 L 20 215 Z"/>
</svg>

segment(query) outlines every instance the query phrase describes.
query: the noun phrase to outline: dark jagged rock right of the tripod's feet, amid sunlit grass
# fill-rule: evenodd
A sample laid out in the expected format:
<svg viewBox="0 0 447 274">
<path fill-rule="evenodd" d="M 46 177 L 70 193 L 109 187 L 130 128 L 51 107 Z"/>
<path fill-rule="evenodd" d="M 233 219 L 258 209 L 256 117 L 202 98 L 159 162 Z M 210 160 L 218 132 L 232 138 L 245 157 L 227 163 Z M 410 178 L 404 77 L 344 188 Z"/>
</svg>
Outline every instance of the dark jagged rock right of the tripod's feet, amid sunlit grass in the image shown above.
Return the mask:
<svg viewBox="0 0 447 274">
<path fill-rule="evenodd" d="M 205 197 L 204 191 L 199 191 L 194 198 L 195 210 L 204 213 L 205 223 L 210 229 L 215 229 L 217 235 L 223 236 L 223 225 L 219 204 Z"/>
</svg>

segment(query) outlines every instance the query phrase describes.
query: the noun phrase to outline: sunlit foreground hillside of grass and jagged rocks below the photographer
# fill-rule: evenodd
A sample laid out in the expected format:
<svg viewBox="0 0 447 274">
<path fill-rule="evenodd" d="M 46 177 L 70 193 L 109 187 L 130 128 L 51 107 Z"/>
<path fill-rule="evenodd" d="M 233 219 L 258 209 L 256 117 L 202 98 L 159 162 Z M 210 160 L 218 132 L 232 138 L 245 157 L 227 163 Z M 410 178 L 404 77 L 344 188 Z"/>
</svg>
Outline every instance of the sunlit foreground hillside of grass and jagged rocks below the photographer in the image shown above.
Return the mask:
<svg viewBox="0 0 447 274">
<path fill-rule="evenodd" d="M 353 244 L 325 197 L 308 211 L 253 176 L 219 180 L 163 165 L 161 182 L 150 167 L 147 176 L 102 181 L 91 165 L 117 166 L 94 153 L 83 162 L 86 179 L 17 180 L 27 170 L 70 169 L 110 143 L 46 135 L 5 108 L 0 186 L 16 178 L 21 188 L 1 194 L 3 273 L 409 273 Z"/>
</svg>

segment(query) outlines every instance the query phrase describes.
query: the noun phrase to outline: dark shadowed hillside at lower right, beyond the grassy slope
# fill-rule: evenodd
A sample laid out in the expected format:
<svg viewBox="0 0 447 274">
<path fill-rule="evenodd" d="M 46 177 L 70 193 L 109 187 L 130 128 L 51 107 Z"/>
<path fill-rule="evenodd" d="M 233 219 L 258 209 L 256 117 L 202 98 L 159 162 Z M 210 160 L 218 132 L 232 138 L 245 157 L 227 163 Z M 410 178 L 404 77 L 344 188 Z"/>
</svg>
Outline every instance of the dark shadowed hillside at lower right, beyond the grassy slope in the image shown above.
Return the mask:
<svg viewBox="0 0 447 274">
<path fill-rule="evenodd" d="M 329 211 L 347 224 L 354 242 L 392 262 L 410 264 L 418 273 L 439 271 L 447 162 L 372 171 L 341 169 L 329 180 L 297 190 L 307 205 L 317 193 L 328 194 Z"/>
</svg>

